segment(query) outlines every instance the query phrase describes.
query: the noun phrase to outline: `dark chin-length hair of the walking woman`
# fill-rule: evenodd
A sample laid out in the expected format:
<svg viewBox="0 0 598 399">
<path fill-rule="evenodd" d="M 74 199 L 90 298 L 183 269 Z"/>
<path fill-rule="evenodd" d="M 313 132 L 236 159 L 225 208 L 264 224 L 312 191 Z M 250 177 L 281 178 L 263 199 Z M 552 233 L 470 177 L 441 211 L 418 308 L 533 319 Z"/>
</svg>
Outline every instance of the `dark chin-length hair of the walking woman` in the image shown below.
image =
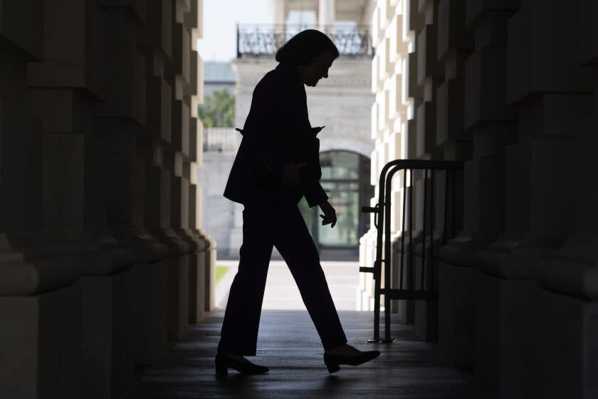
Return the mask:
<svg viewBox="0 0 598 399">
<path fill-rule="evenodd" d="M 308 65 L 325 51 L 339 56 L 338 48 L 324 33 L 315 29 L 300 31 L 276 51 L 276 61 L 293 65 Z"/>
</svg>

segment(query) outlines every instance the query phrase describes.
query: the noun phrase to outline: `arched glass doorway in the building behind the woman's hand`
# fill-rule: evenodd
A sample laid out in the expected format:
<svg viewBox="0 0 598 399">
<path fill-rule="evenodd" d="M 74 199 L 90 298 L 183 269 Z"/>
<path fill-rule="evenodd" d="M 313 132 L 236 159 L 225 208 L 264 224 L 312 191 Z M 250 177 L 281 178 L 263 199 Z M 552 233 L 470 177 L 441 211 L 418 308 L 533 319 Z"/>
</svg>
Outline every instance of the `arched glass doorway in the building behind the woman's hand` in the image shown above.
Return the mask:
<svg viewBox="0 0 598 399">
<path fill-rule="evenodd" d="M 361 212 L 369 204 L 374 186 L 369 184 L 369 158 L 357 152 L 332 150 L 320 153 L 322 178 L 328 202 L 335 207 L 337 224 L 322 226 L 320 207 L 308 207 L 305 197 L 299 208 L 321 259 L 359 259 L 359 239 L 369 229 L 369 214 Z"/>
</svg>

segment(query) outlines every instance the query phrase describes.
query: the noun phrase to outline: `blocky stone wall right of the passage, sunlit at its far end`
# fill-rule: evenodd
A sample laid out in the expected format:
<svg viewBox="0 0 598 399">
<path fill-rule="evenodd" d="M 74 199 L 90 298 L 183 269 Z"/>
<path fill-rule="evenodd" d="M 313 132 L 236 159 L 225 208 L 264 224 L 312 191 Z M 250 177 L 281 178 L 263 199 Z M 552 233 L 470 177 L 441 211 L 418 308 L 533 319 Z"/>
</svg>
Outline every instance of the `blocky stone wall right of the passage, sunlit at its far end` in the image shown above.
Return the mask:
<svg viewBox="0 0 598 399">
<path fill-rule="evenodd" d="M 401 157 L 463 161 L 460 232 L 434 254 L 438 308 L 393 310 L 493 398 L 598 394 L 597 16 L 583 0 L 382 0 L 374 10 L 372 170 L 389 160 L 386 130 L 403 135 Z M 387 114 L 397 70 L 400 100 L 413 105 L 399 128 Z M 436 219 L 424 238 L 442 229 Z M 373 266 L 372 234 L 362 241 Z"/>
</svg>

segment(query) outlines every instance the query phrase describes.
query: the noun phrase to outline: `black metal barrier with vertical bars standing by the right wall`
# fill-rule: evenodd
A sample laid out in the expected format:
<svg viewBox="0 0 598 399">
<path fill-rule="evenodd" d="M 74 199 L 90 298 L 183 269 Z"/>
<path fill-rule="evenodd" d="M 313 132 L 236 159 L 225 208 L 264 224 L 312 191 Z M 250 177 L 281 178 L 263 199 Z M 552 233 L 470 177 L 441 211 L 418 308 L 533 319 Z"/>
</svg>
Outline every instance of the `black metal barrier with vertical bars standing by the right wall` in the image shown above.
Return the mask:
<svg viewBox="0 0 598 399">
<path fill-rule="evenodd" d="M 424 182 L 423 203 L 414 204 L 414 170 L 421 173 Z M 374 338 L 368 342 L 392 342 L 390 337 L 390 301 L 391 300 L 438 300 L 438 277 L 434 261 L 434 232 L 441 234 L 439 244 L 446 244 L 447 239 L 457 232 L 456 214 L 458 212 L 458 175 L 462 173 L 463 162 L 431 160 L 392 160 L 382 168 L 379 180 L 379 197 L 375 207 L 362 207 L 362 212 L 374 214 L 374 226 L 377 229 L 376 259 L 374 266 L 362 266 L 360 271 L 374 274 Z M 399 286 L 391 287 L 391 182 L 392 176 L 402 171 L 402 228 L 400 260 L 394 262 L 399 267 Z M 436 210 L 435 175 L 444 174 L 444 209 Z M 409 186 L 406 182 L 409 181 Z M 423 216 L 421 231 L 414 237 L 414 206 L 420 207 Z M 407 212 L 407 208 L 409 211 Z M 419 212 L 419 211 L 418 211 Z M 441 215 L 441 226 L 436 225 L 435 212 Z M 406 225 L 407 224 L 407 225 Z M 384 236 L 384 244 L 382 237 Z M 406 238 L 409 237 L 407 244 Z M 426 247 L 427 246 L 427 247 Z M 384 249 L 384 254 L 382 251 Z M 415 250 L 419 254 L 415 253 Z M 427 257 L 429 254 L 429 257 Z M 421 265 L 416 264 L 416 257 L 421 256 Z M 418 259 L 419 260 L 419 259 Z M 427 262 L 426 262 L 427 261 Z M 381 286 L 382 263 L 384 262 L 384 287 Z M 380 296 L 384 295 L 384 338 L 379 338 Z"/>
</svg>

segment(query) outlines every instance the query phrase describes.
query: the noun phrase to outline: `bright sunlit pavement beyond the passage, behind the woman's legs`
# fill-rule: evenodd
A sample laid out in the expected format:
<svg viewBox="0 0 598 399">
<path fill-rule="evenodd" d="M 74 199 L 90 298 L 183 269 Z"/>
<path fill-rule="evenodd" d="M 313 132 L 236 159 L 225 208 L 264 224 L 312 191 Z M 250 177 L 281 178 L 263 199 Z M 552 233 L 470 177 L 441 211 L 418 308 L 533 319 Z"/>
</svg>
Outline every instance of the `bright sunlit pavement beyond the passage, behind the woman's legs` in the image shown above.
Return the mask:
<svg viewBox="0 0 598 399">
<path fill-rule="evenodd" d="M 219 260 L 216 264 L 231 266 L 216 286 L 216 307 L 224 311 L 229 289 L 233 282 L 238 261 Z M 320 261 L 328 282 L 332 300 L 338 311 L 356 310 L 360 266 L 356 261 Z M 285 261 L 271 261 L 263 295 L 262 309 L 304 310 L 305 304 Z"/>
</svg>

